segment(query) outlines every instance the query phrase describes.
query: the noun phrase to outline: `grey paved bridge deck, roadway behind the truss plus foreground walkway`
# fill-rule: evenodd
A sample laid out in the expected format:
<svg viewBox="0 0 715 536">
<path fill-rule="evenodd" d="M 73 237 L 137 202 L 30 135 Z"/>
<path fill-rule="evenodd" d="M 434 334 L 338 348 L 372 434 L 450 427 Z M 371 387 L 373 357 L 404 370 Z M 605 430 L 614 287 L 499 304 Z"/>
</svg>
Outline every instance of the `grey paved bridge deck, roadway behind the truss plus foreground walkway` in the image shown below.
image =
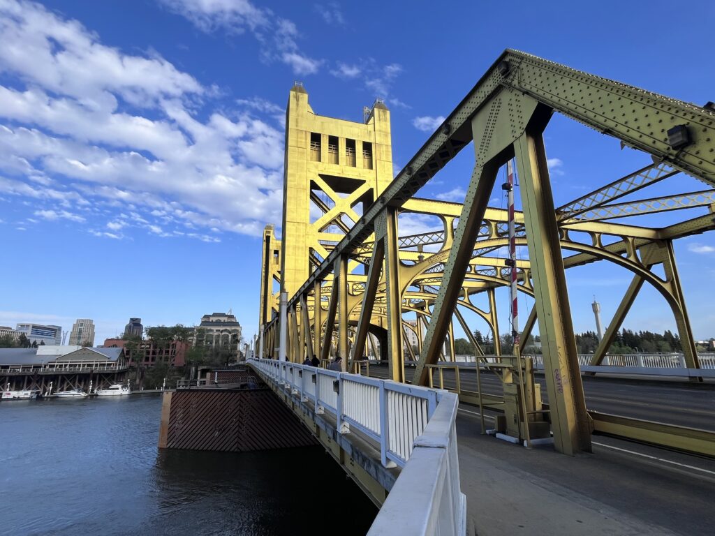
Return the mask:
<svg viewBox="0 0 715 536">
<path fill-rule="evenodd" d="M 370 367 L 371 376 L 386 372 Z M 444 377 L 453 387 L 453 372 Z M 475 378 L 460 379 L 476 390 Z M 482 380 L 485 392 L 501 392 L 495 377 Z M 583 386 L 589 410 L 715 430 L 715 384 L 584 377 Z M 574 457 L 553 445 L 526 449 L 482 435 L 478 407 L 464 403 L 457 433 L 470 535 L 715 534 L 715 452 L 709 459 L 596 435 L 593 453 Z"/>
</svg>

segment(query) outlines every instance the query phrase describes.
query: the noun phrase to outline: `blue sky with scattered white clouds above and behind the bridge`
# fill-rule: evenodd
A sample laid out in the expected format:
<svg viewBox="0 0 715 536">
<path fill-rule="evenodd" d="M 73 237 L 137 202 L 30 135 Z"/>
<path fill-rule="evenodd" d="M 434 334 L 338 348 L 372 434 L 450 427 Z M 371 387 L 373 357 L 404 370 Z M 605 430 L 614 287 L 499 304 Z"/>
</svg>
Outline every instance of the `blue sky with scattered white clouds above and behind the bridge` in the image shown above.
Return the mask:
<svg viewBox="0 0 715 536">
<path fill-rule="evenodd" d="M 507 47 L 714 100 L 714 11 L 664 1 L 0 0 L 0 324 L 69 329 L 89 317 L 101 343 L 129 317 L 192 325 L 232 308 L 250 336 L 260 234 L 280 223 L 294 80 L 327 116 L 359 121 L 363 106 L 385 98 L 399 168 Z M 556 204 L 649 163 L 560 116 L 546 148 Z M 461 201 L 471 167 L 463 153 L 420 195 Z M 704 185 L 678 177 L 660 188 Z M 702 292 L 715 277 L 715 240 L 681 240 L 676 254 L 695 335 L 715 336 Z M 593 294 L 608 324 L 629 280 L 602 265 L 570 271 L 576 330 L 593 329 Z M 626 326 L 674 322 L 646 289 Z"/>
</svg>

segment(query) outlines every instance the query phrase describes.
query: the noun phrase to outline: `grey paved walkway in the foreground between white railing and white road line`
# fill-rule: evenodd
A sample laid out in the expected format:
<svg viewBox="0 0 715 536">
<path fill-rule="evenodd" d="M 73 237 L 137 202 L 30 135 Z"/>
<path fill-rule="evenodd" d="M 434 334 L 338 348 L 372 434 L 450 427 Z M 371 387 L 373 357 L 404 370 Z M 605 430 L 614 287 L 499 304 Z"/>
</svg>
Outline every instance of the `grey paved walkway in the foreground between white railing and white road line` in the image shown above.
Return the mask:
<svg viewBox="0 0 715 536">
<path fill-rule="evenodd" d="M 715 523 L 712 477 L 606 448 L 578 457 L 526 450 L 480 435 L 464 410 L 457 430 L 470 534 L 696 535 Z"/>
</svg>

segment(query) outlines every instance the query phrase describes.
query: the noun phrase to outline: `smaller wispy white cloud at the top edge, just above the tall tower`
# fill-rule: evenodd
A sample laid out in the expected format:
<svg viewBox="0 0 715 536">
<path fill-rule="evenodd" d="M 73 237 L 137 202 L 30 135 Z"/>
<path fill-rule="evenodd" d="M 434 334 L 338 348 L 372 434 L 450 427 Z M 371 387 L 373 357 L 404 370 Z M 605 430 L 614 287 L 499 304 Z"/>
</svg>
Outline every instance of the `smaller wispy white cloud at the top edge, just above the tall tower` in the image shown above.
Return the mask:
<svg viewBox="0 0 715 536">
<path fill-rule="evenodd" d="M 312 59 L 298 49 L 300 36 L 295 24 L 276 16 L 267 8 L 248 0 L 159 0 L 174 13 L 184 16 L 205 32 L 217 30 L 229 34 L 250 31 L 262 45 L 265 61 L 281 61 L 295 74 L 315 74 L 322 61 Z"/>
</svg>

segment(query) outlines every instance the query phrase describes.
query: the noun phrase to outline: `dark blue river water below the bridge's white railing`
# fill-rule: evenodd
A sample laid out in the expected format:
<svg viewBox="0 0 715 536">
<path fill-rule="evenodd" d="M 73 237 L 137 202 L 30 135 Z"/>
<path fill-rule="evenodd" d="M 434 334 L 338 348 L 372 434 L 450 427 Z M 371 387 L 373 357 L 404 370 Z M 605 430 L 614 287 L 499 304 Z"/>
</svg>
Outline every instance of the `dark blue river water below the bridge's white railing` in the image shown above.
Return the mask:
<svg viewBox="0 0 715 536">
<path fill-rule="evenodd" d="M 0 402 L 0 534 L 364 535 L 322 450 L 159 451 L 158 395 Z"/>
</svg>

